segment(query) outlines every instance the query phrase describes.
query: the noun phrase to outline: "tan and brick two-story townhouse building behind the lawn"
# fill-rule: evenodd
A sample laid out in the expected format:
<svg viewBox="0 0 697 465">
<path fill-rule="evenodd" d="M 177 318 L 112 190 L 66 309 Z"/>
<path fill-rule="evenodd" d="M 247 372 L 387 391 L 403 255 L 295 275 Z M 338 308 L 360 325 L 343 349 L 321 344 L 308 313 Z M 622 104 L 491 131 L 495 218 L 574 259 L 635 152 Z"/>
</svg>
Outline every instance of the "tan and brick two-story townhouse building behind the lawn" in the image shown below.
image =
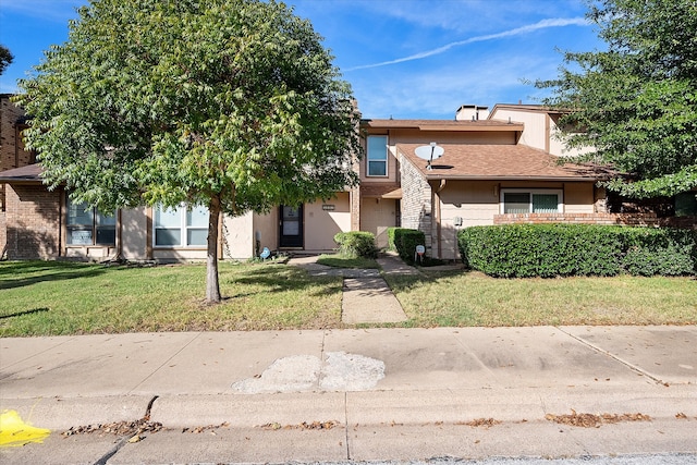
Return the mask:
<svg viewBox="0 0 697 465">
<path fill-rule="evenodd" d="M 491 113 L 462 106 L 454 120 L 363 120 L 358 186 L 331 200 L 279 206 L 268 215 L 225 216 L 219 256 L 246 259 L 264 247 L 328 252 L 338 232 L 352 230 L 375 233 L 383 247 L 388 228 L 401 225 L 424 231 L 429 256 L 455 259 L 457 231 L 469 225 L 626 222 L 606 211 L 604 191 L 596 186 L 606 170 L 558 163 L 567 154 L 554 142 L 557 117 L 542 107 L 497 105 Z M 21 118 L 11 125 L 12 147 Z M 4 127 L 3 119 L 3 157 Z M 431 143 L 442 150 L 432 162 L 421 158 Z M 7 234 L 8 258 L 205 258 L 205 208 L 102 215 L 73 204 L 61 188 L 47 191 L 40 167 L 30 164 L 29 154 L 22 157 L 24 164 L 3 164 L 0 172 L 0 185 L 5 184 L 0 241 Z"/>
</svg>

